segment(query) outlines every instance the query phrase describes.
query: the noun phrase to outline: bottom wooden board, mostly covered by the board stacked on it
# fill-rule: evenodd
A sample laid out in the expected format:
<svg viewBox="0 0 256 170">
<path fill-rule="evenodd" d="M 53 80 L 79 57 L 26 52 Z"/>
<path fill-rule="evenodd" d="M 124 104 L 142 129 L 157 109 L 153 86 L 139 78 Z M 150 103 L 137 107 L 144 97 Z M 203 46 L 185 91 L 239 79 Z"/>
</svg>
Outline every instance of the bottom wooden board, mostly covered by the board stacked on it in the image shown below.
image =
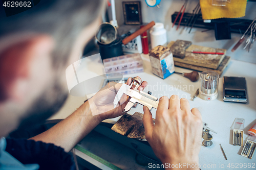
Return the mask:
<svg viewBox="0 0 256 170">
<path fill-rule="evenodd" d="M 188 69 L 194 69 L 197 71 L 207 71 L 207 70 L 215 71 L 221 76 L 222 72 L 227 67 L 230 60 L 231 60 L 231 57 L 225 56 L 217 69 L 206 68 L 206 67 L 201 67 L 201 66 L 196 66 L 196 65 L 190 65 L 190 64 L 186 64 L 186 63 L 180 63 L 177 61 L 175 61 L 174 64 L 175 64 L 175 66 L 184 67 L 184 68 L 188 68 Z"/>
</svg>

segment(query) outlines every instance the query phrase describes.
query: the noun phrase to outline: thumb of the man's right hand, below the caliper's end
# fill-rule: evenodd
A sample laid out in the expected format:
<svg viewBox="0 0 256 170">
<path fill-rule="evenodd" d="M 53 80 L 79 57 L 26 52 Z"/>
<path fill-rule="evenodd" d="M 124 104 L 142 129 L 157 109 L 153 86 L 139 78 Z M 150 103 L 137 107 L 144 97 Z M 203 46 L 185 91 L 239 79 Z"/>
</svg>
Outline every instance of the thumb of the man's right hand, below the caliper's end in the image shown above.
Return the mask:
<svg viewBox="0 0 256 170">
<path fill-rule="evenodd" d="M 146 107 L 146 106 L 143 106 L 143 111 L 144 111 L 143 125 L 144 125 L 144 129 L 145 129 L 146 139 L 151 140 L 152 139 L 152 132 L 153 132 L 153 129 L 154 129 L 152 114 L 150 112 L 150 109 L 148 109 L 148 107 Z"/>
</svg>

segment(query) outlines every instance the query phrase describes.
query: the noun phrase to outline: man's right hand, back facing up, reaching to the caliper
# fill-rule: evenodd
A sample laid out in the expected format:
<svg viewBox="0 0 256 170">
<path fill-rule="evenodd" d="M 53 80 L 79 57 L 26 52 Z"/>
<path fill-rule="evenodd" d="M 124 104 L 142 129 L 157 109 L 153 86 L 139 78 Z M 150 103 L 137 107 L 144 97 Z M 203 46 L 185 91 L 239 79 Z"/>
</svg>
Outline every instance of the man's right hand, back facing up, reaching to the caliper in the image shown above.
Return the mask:
<svg viewBox="0 0 256 170">
<path fill-rule="evenodd" d="M 150 110 L 146 106 L 143 110 L 146 139 L 162 163 L 198 165 L 202 137 L 202 117 L 198 109 L 190 110 L 188 101 L 180 100 L 178 95 L 172 95 L 169 100 L 163 96 L 155 125 Z"/>
</svg>

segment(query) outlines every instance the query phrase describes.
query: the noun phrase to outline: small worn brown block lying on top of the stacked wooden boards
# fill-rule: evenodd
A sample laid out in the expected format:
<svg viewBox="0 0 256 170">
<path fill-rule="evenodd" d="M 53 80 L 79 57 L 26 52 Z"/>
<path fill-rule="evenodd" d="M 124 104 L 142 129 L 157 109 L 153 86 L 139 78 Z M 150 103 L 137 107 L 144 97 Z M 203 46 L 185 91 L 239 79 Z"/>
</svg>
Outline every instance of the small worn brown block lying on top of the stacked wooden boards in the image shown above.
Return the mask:
<svg viewBox="0 0 256 170">
<path fill-rule="evenodd" d="M 170 46 L 174 57 L 184 58 L 186 49 L 192 44 L 191 41 L 177 40 Z"/>
</svg>

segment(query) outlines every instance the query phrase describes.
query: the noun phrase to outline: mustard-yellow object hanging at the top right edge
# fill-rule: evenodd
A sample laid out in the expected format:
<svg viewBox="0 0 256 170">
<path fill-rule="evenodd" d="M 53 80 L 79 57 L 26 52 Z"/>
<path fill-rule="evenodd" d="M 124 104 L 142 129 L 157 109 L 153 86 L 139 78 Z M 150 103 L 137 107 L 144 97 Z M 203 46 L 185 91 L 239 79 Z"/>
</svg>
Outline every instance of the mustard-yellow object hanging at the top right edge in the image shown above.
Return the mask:
<svg viewBox="0 0 256 170">
<path fill-rule="evenodd" d="M 246 0 L 232 0 L 226 6 L 212 6 L 212 0 L 200 0 L 203 19 L 239 18 L 245 16 Z"/>
</svg>

